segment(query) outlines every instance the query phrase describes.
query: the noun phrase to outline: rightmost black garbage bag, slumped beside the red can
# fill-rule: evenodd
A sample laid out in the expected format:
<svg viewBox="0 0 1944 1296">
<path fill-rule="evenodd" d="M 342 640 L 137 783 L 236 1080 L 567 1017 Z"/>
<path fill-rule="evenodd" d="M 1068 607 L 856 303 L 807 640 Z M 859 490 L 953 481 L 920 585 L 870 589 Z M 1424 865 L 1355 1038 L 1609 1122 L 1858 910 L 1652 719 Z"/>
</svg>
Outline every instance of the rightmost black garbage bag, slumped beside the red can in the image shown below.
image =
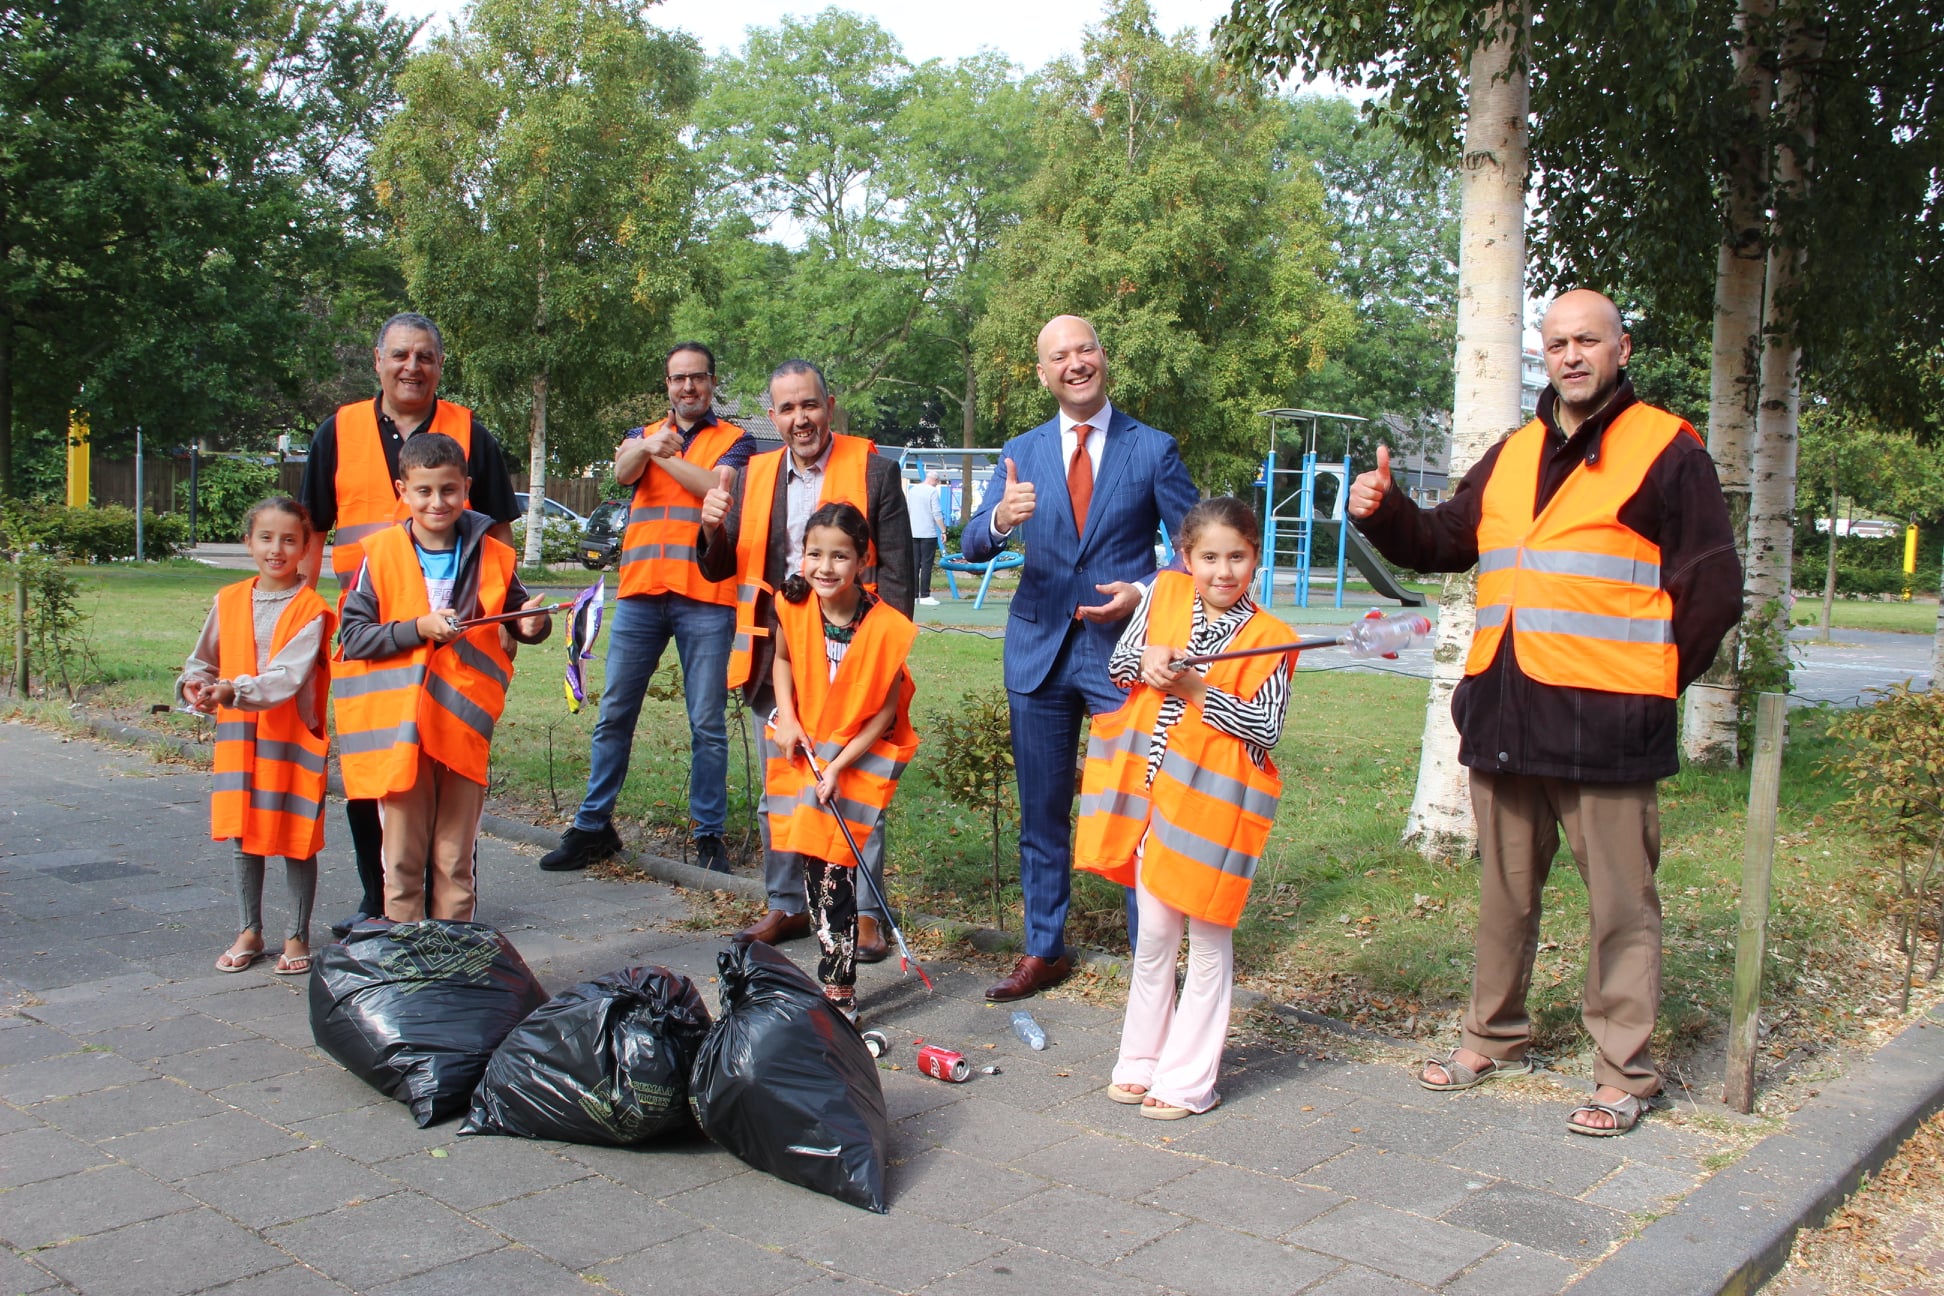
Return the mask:
<svg viewBox="0 0 1944 1296">
<path fill-rule="evenodd" d="M 883 1214 L 890 1117 L 863 1036 L 760 940 L 715 966 L 721 1016 L 688 1076 L 702 1133 L 778 1179 Z"/>
</svg>

